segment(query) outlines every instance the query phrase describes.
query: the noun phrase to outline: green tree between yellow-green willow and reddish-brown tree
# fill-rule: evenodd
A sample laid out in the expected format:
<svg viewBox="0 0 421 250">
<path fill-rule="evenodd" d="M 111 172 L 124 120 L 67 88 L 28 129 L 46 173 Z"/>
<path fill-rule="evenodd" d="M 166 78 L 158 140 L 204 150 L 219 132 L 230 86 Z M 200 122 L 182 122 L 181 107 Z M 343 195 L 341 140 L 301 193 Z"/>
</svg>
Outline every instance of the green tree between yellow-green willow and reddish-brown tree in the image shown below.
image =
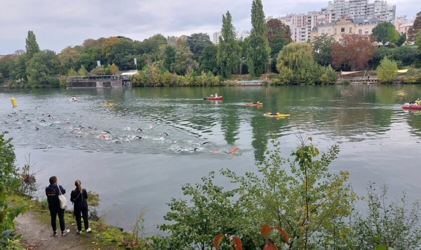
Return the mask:
<svg viewBox="0 0 421 250">
<path fill-rule="evenodd" d="M 326 33 L 318 36 L 312 43 L 314 60 L 320 65 L 332 64 L 332 44 L 335 42 L 333 35 Z"/>
</svg>

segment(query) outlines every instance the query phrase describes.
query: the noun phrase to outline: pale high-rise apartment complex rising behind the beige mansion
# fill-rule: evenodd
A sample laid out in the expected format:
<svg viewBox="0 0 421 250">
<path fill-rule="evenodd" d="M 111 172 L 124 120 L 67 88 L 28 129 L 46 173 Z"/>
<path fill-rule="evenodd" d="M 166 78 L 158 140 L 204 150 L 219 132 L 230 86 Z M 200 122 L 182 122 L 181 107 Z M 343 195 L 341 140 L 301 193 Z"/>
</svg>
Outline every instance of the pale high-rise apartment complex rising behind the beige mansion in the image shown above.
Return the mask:
<svg viewBox="0 0 421 250">
<path fill-rule="evenodd" d="M 327 7 L 320 11 L 308 13 L 288 14 L 278 17 L 283 23 L 290 26 L 291 39 L 296 42 L 305 42 L 311 38 L 311 30 L 317 24 L 330 23 L 345 15 L 350 19 L 368 19 L 373 16 L 382 21 L 393 22 L 396 14 L 395 5 L 387 5 L 384 0 L 334 0 L 328 2 Z M 269 16 L 268 19 L 273 18 Z"/>
</svg>

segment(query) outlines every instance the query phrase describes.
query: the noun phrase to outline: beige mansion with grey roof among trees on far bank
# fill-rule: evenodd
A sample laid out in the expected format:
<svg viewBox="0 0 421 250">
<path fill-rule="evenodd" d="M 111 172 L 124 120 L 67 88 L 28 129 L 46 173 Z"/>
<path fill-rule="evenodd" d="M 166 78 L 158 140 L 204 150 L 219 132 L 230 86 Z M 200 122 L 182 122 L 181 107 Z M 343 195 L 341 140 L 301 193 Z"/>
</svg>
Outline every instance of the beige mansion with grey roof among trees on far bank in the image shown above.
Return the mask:
<svg viewBox="0 0 421 250">
<path fill-rule="evenodd" d="M 333 35 L 336 41 L 340 41 L 343 34 L 371 34 L 372 29 L 380 22 L 382 20 L 377 17 L 350 20 L 342 16 L 336 21 L 317 24 L 311 30 L 311 40 L 314 41 L 322 34 Z"/>
</svg>

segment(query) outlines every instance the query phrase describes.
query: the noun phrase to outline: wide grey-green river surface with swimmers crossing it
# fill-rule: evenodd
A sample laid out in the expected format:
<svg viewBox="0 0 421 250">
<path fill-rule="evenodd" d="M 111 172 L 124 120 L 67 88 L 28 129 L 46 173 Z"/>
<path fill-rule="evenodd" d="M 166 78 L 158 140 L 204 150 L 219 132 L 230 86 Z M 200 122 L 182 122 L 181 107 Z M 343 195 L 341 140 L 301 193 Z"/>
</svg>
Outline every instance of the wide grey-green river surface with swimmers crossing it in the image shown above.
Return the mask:
<svg viewBox="0 0 421 250">
<path fill-rule="evenodd" d="M 215 92 L 223 101 L 201 99 Z M 418 197 L 421 112 L 400 105 L 419 96 L 421 85 L 0 89 L 0 130 L 14 137 L 20 165 L 31 154 L 43 187 L 57 175 L 70 191 L 79 178 L 100 193 L 100 212 L 109 208 L 112 224 L 129 230 L 147 206 L 146 232 L 157 233 L 166 202 L 182 197 L 182 184 L 221 168 L 255 171 L 271 132 L 288 157 L 298 127 L 321 151 L 339 144 L 331 171 L 349 170 L 358 194 L 368 181 L 385 181 L 392 198 L 403 190 Z M 107 100 L 116 105 L 101 105 Z M 263 107 L 244 105 L 258 100 Z M 267 111 L 291 117 L 264 117 Z M 242 151 L 227 154 L 234 146 Z M 217 182 L 230 186 L 221 176 Z"/>
</svg>

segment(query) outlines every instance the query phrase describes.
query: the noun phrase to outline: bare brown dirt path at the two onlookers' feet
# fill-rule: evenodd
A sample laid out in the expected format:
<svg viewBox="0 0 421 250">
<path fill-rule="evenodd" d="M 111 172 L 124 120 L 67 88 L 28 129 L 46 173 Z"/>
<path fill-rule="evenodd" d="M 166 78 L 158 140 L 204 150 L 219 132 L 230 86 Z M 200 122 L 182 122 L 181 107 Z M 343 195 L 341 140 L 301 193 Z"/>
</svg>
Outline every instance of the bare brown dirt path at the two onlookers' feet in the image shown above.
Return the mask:
<svg viewBox="0 0 421 250">
<path fill-rule="evenodd" d="M 81 235 L 76 233 L 76 225 L 72 225 L 75 221 L 66 221 L 66 228 L 70 232 L 62 236 L 59 230 L 58 236 L 53 236 L 51 225 L 41 221 L 39 214 L 34 211 L 28 211 L 24 215 L 19 215 L 15 221 L 18 233 L 22 233 L 22 241 L 28 249 L 98 249 L 96 247 L 91 233 L 82 232 Z M 57 226 L 59 227 L 57 218 Z"/>
</svg>

